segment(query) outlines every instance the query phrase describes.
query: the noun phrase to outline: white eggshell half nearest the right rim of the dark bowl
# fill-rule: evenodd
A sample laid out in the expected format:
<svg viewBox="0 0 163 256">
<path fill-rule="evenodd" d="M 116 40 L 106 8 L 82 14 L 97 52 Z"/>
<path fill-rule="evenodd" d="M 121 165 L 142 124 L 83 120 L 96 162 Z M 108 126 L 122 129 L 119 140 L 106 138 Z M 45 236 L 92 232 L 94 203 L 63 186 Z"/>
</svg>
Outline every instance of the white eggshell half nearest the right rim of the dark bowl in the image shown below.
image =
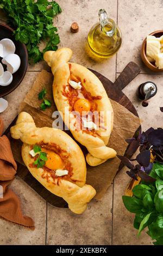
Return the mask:
<svg viewBox="0 0 163 256">
<path fill-rule="evenodd" d="M 17 54 L 11 53 L 2 59 L 2 63 L 7 65 L 7 70 L 11 74 L 14 74 L 20 68 L 21 60 Z"/>
</svg>

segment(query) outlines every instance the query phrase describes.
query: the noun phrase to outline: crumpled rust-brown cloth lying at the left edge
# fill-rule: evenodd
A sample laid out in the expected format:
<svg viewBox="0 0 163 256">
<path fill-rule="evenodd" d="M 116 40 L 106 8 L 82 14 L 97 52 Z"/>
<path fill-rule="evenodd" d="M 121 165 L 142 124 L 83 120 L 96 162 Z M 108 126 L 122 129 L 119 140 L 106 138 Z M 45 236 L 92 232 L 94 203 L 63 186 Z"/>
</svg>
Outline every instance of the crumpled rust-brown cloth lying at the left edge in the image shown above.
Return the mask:
<svg viewBox="0 0 163 256">
<path fill-rule="evenodd" d="M 0 136 L 4 130 L 0 118 Z M 12 155 L 9 139 L 0 137 L 0 217 L 34 230 L 32 218 L 23 216 L 20 199 L 8 187 L 15 178 L 17 165 Z"/>
</svg>

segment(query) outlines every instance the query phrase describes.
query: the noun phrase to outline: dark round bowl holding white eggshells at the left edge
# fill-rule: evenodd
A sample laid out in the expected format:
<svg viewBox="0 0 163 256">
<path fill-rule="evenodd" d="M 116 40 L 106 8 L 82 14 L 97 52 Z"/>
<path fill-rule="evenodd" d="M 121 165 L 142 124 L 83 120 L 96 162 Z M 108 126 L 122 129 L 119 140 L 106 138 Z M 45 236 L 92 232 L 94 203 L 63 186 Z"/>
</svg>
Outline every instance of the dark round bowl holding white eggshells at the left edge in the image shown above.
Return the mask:
<svg viewBox="0 0 163 256">
<path fill-rule="evenodd" d="M 15 53 L 21 59 L 20 68 L 15 72 L 15 74 L 12 75 L 13 76 L 12 83 L 10 83 L 9 86 L 0 86 L 0 97 L 8 95 L 18 87 L 18 85 L 22 82 L 28 67 L 28 53 L 27 53 L 26 46 L 22 44 L 20 41 L 15 40 L 14 36 L 12 35 L 13 31 L 14 30 L 12 28 L 0 23 L 0 40 L 2 40 L 3 38 L 11 39 L 14 42 L 16 47 Z M 1 57 L 0 57 L 0 61 L 2 64 Z M 6 69 L 7 66 L 4 64 L 2 65 L 3 65 L 4 71 L 7 70 Z"/>
</svg>

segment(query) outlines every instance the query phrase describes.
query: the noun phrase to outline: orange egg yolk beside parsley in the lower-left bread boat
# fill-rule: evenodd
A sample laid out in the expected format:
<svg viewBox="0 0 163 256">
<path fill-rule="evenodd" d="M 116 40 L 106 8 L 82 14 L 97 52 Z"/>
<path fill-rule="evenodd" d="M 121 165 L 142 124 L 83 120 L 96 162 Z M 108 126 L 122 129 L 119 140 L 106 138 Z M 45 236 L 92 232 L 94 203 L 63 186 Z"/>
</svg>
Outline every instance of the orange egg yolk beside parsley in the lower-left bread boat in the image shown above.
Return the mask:
<svg viewBox="0 0 163 256">
<path fill-rule="evenodd" d="M 47 153 L 47 161 L 45 163 L 45 166 L 47 168 L 51 170 L 57 170 L 57 169 L 62 169 L 64 167 L 61 157 L 58 154 L 45 148 L 42 148 L 41 151 Z"/>
</svg>

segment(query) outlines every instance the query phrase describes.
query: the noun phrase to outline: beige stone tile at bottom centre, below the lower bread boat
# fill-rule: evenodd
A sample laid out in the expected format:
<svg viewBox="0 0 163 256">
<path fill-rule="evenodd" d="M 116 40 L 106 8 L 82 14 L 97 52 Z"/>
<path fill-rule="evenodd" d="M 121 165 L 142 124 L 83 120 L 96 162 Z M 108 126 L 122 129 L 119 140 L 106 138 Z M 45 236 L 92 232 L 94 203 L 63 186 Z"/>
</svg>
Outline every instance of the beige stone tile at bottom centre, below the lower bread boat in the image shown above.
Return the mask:
<svg viewBox="0 0 163 256">
<path fill-rule="evenodd" d="M 48 245 L 110 245 L 112 185 L 101 201 L 92 200 L 82 215 L 48 205 Z"/>
</svg>

